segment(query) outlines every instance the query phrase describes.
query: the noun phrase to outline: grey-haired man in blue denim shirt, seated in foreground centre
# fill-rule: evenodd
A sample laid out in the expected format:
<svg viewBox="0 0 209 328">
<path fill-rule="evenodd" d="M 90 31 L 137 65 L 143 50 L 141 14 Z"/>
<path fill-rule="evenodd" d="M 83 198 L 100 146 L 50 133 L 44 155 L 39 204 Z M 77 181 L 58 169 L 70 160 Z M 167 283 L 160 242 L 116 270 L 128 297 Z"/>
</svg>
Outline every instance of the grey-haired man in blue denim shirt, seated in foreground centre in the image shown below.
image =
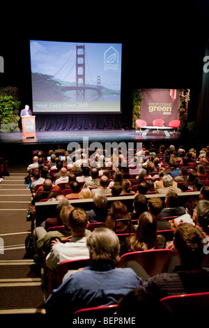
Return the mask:
<svg viewBox="0 0 209 328">
<path fill-rule="evenodd" d="M 68 318 L 79 308 L 116 304 L 134 288 L 142 288 L 141 278 L 132 269 L 116 269 L 120 243 L 113 231 L 95 229 L 86 244 L 91 265 L 72 274 L 52 292 L 45 303 L 47 314 Z"/>
</svg>

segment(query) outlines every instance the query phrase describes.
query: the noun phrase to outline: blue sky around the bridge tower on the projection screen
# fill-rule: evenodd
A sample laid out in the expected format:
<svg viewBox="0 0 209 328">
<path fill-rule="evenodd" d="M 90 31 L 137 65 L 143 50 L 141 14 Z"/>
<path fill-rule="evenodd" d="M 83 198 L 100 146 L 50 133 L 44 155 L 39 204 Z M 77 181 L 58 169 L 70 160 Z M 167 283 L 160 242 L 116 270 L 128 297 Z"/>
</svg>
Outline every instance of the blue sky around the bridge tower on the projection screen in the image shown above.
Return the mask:
<svg viewBox="0 0 209 328">
<path fill-rule="evenodd" d="M 55 79 L 75 82 L 76 45 L 85 46 L 86 84 L 121 89 L 121 54 L 119 43 L 68 43 L 31 40 L 31 72 L 52 75 Z M 109 55 L 109 56 L 108 56 Z"/>
</svg>

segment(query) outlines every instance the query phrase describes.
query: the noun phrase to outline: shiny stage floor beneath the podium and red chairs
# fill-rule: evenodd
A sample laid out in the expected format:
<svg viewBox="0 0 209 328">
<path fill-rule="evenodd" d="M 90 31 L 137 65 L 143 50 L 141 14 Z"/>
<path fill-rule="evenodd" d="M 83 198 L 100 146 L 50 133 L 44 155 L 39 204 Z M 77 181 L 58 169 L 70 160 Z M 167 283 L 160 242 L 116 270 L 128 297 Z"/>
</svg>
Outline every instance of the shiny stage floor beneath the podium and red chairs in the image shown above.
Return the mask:
<svg viewBox="0 0 209 328">
<path fill-rule="evenodd" d="M 1 144 L 53 144 L 83 142 L 143 142 L 146 140 L 180 140 L 180 133 L 169 133 L 166 136 L 163 131 L 150 131 L 146 136 L 141 135 L 139 131 L 123 129 L 104 129 L 104 130 L 72 130 L 72 131 L 37 131 L 36 139 L 22 138 L 22 132 L 0 133 Z"/>
</svg>

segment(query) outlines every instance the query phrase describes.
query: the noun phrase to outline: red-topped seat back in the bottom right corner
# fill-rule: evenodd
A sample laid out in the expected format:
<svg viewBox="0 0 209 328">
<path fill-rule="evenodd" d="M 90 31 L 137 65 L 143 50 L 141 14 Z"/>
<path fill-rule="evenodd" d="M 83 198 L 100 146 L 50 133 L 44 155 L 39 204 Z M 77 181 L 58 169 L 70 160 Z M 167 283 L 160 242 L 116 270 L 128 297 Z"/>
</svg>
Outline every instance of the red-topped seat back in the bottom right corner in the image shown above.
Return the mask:
<svg viewBox="0 0 209 328">
<path fill-rule="evenodd" d="M 208 313 L 209 292 L 172 295 L 160 299 L 173 315 L 194 315 Z"/>
</svg>

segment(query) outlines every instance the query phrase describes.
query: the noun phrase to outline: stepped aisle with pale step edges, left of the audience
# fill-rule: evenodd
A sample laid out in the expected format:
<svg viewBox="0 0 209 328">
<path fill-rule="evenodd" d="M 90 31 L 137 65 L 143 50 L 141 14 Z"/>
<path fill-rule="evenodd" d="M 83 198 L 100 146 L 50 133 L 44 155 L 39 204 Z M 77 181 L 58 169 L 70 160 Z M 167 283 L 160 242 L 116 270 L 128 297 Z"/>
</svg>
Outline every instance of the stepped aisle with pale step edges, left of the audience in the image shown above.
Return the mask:
<svg viewBox="0 0 209 328">
<path fill-rule="evenodd" d="M 40 269 L 25 258 L 30 232 L 26 209 L 31 193 L 24 184 L 24 167 L 9 167 L 0 184 L 0 314 L 41 313 L 44 297 Z"/>
</svg>

